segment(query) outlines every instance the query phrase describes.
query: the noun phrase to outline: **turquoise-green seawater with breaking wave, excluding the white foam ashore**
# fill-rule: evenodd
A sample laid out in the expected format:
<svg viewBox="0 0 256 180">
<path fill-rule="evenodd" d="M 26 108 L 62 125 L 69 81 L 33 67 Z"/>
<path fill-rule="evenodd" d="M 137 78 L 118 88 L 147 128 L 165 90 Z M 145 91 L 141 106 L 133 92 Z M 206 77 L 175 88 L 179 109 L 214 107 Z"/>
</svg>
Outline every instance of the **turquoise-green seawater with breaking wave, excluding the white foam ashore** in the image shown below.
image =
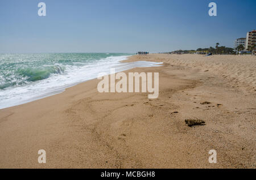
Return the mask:
<svg viewBox="0 0 256 180">
<path fill-rule="evenodd" d="M 52 74 L 64 74 L 73 67 L 82 67 L 106 59 L 129 54 L 121 53 L 46 53 L 0 54 L 0 89 L 30 84 Z"/>
</svg>

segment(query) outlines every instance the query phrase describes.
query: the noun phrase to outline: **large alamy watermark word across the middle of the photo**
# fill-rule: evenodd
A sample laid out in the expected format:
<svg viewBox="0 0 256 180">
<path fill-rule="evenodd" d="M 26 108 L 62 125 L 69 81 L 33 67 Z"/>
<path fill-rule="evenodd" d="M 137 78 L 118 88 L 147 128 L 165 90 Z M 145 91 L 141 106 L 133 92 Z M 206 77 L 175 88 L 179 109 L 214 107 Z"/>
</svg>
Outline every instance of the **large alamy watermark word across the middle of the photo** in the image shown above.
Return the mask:
<svg viewBox="0 0 256 180">
<path fill-rule="evenodd" d="M 127 80 L 127 75 L 124 72 L 115 74 L 115 68 L 111 68 L 110 75 L 98 74 L 98 79 L 101 80 L 97 86 L 98 92 L 148 92 L 151 93 L 148 98 L 158 98 L 159 73 L 154 72 L 154 87 L 152 87 L 152 75 L 152 72 L 147 72 L 147 74 L 145 72 L 129 72 Z M 115 80 L 119 81 L 115 84 Z"/>
</svg>

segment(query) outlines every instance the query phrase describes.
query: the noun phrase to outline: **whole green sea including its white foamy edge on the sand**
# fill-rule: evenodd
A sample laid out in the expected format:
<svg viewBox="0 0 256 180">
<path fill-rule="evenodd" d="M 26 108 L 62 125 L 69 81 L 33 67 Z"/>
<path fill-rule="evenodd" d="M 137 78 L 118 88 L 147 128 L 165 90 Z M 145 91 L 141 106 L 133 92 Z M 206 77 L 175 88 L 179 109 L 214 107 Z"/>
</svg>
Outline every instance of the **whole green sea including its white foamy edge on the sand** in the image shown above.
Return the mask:
<svg viewBox="0 0 256 180">
<path fill-rule="evenodd" d="M 63 92 L 100 72 L 110 74 L 134 67 L 159 66 L 155 62 L 121 63 L 127 53 L 0 54 L 0 109 Z"/>
</svg>

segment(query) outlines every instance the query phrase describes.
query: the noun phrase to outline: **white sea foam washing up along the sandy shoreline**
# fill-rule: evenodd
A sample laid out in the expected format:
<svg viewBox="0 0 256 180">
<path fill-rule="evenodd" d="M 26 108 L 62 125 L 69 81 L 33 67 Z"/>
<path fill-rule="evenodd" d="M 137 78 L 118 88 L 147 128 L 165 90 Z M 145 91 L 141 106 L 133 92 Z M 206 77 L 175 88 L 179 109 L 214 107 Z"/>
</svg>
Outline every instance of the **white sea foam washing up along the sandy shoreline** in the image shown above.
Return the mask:
<svg viewBox="0 0 256 180">
<path fill-rule="evenodd" d="M 24 104 L 40 98 L 48 97 L 65 91 L 81 82 L 97 78 L 100 72 L 110 74 L 110 68 L 115 72 L 129 70 L 134 67 L 159 66 L 160 63 L 139 61 L 121 63 L 127 56 L 107 57 L 85 66 L 65 66 L 63 74 L 51 74 L 47 79 L 39 80 L 19 87 L 10 87 L 0 91 L 0 109 Z"/>
</svg>

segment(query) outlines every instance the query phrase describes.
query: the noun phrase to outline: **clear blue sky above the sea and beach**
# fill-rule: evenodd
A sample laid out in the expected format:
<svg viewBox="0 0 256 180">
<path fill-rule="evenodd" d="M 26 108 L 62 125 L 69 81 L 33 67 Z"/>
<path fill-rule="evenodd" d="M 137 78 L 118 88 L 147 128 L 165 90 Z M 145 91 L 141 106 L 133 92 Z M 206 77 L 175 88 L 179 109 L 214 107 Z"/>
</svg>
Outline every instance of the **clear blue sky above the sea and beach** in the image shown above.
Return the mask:
<svg viewBox="0 0 256 180">
<path fill-rule="evenodd" d="M 255 0 L 0 0 L 0 53 L 233 48 L 256 29 L 255 9 Z"/>
</svg>

